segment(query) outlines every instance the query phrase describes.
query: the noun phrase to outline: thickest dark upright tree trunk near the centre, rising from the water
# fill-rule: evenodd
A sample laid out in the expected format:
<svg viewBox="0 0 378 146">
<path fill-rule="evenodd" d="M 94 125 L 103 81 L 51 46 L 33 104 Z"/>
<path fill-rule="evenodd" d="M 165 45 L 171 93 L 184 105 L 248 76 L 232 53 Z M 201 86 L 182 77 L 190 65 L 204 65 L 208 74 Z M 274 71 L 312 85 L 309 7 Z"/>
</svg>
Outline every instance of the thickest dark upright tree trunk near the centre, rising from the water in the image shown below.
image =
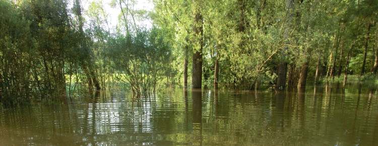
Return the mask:
<svg viewBox="0 0 378 146">
<path fill-rule="evenodd" d="M 199 4 L 197 4 L 199 5 Z M 199 7 L 199 6 L 197 6 Z M 194 19 L 194 32 L 197 38 L 198 48 L 193 54 L 192 84 L 193 88 L 202 88 L 202 47 L 203 47 L 203 24 L 202 15 L 199 8 L 196 8 Z"/>
</svg>

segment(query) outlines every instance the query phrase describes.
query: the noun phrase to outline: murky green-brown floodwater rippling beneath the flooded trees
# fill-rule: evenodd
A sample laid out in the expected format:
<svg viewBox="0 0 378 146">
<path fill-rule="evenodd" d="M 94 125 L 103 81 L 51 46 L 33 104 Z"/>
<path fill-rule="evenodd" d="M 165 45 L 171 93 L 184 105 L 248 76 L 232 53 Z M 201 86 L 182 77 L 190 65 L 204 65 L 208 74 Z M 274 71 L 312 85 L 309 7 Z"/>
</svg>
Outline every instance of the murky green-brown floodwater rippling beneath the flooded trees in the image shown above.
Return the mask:
<svg viewBox="0 0 378 146">
<path fill-rule="evenodd" d="M 166 89 L 0 105 L 0 145 L 377 145 L 376 87 Z"/>
</svg>

